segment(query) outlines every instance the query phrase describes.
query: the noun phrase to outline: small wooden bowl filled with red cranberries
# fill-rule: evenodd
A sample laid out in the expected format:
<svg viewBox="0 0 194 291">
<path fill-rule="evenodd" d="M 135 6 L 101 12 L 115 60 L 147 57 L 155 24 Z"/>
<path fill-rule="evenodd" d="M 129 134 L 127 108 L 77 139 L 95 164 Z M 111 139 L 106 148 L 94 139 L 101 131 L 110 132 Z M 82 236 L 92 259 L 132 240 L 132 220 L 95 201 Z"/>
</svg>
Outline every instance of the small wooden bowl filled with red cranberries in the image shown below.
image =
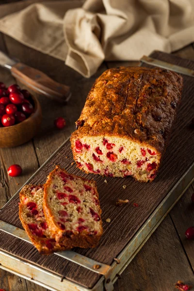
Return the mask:
<svg viewBox="0 0 194 291">
<path fill-rule="evenodd" d="M 42 121 L 42 111 L 37 98 L 30 95 L 28 91 L 21 90 L 18 85 L 9 88 L 5 90 L 10 103 L 7 104 L 7 99 L 1 100 L 0 103 L 1 112 L 4 113 L 0 113 L 0 147 L 19 146 L 28 142 L 37 133 Z"/>
</svg>

